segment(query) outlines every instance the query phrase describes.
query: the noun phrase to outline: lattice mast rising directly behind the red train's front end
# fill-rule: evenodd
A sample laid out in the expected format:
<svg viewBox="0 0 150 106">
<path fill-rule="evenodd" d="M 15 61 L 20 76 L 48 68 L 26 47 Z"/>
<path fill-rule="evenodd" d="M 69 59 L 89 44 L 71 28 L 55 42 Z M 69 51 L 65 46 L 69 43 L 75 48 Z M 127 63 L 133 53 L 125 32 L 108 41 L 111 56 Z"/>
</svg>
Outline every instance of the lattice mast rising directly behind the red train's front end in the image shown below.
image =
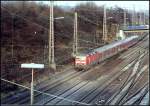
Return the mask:
<svg viewBox="0 0 150 106">
<path fill-rule="evenodd" d="M 74 35 L 73 35 L 73 56 L 76 56 L 78 53 L 78 18 L 77 18 L 77 12 L 75 12 L 74 15 Z"/>
</svg>

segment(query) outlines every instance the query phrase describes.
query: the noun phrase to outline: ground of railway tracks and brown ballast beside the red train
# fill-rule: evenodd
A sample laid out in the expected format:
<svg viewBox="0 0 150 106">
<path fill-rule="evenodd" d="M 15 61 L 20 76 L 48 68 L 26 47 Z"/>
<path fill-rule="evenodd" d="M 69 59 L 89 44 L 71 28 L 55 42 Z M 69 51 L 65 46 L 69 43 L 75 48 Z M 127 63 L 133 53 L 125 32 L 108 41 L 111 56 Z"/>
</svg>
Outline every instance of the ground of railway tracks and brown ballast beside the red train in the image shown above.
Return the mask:
<svg viewBox="0 0 150 106">
<path fill-rule="evenodd" d="M 149 95 L 147 36 L 127 51 L 88 71 L 77 72 L 69 68 L 56 75 L 54 79 L 37 85 L 34 103 L 37 105 L 147 104 L 148 102 L 143 102 L 148 100 L 147 95 Z M 29 90 L 24 90 L 13 97 L 5 98 L 2 103 L 29 104 L 29 95 Z"/>
</svg>

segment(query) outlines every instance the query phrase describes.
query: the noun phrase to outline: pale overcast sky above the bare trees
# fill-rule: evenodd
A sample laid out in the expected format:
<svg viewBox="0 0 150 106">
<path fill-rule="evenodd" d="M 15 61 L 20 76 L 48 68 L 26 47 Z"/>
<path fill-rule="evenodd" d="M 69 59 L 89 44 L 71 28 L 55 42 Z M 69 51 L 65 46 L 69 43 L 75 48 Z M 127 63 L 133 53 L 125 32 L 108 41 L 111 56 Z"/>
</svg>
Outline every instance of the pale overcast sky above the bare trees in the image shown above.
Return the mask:
<svg viewBox="0 0 150 106">
<path fill-rule="evenodd" d="M 48 4 L 49 1 L 40 1 L 43 3 Z M 79 3 L 85 3 L 88 1 L 55 1 L 54 4 L 58 6 L 75 6 Z M 127 9 L 133 9 L 133 6 L 135 7 L 135 10 L 149 10 L 149 1 L 92 1 L 95 2 L 97 5 L 106 5 L 107 7 L 113 7 L 115 5 Z"/>
</svg>

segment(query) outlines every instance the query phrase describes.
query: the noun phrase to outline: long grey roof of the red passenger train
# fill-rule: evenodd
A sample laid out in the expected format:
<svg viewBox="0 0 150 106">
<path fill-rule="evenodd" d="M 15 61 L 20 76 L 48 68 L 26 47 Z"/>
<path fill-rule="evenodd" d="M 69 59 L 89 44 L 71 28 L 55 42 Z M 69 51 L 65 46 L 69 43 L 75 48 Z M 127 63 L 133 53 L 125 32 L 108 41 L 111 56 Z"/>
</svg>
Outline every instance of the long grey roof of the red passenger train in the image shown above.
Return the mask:
<svg viewBox="0 0 150 106">
<path fill-rule="evenodd" d="M 111 44 L 108 44 L 108 45 L 105 45 L 105 46 L 102 46 L 102 47 L 99 47 L 99 48 L 96 48 L 96 49 L 93 49 L 93 50 L 84 51 L 84 52 L 82 52 L 82 53 L 77 54 L 77 56 L 85 56 L 85 55 L 92 54 L 92 53 L 94 54 L 95 52 L 103 52 L 103 51 L 108 50 L 108 49 L 110 49 L 110 48 L 113 48 L 113 47 L 115 47 L 115 46 L 117 46 L 117 45 L 126 43 L 126 42 L 128 42 L 128 41 L 130 41 L 130 40 L 132 40 L 132 39 L 137 38 L 137 37 L 138 37 L 138 36 L 131 36 L 131 37 L 128 37 L 128 38 L 126 38 L 126 39 L 119 40 L 119 41 L 117 41 L 117 42 L 113 42 L 113 43 L 111 43 Z"/>
</svg>

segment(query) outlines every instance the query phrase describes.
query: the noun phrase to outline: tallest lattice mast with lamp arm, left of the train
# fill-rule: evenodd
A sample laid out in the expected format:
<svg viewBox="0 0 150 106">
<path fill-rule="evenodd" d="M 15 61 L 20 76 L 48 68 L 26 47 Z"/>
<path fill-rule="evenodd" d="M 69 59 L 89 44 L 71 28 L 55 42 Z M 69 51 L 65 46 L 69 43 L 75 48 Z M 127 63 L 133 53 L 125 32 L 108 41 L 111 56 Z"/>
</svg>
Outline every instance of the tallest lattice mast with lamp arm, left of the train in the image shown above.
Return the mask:
<svg viewBox="0 0 150 106">
<path fill-rule="evenodd" d="M 50 26 L 49 26 L 49 68 L 56 69 L 55 59 L 54 59 L 54 13 L 53 13 L 53 3 L 50 1 Z"/>
</svg>

